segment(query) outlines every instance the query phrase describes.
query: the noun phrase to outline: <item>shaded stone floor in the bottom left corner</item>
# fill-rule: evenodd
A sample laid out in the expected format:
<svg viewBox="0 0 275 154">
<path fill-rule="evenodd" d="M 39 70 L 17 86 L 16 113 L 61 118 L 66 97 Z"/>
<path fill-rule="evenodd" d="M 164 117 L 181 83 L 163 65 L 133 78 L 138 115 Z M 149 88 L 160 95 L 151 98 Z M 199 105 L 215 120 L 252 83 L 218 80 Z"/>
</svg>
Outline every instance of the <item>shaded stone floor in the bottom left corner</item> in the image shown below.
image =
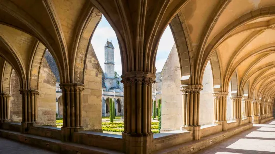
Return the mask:
<svg viewBox="0 0 275 154">
<path fill-rule="evenodd" d="M 0 154 L 57 154 L 12 140 L 0 138 Z"/>
</svg>

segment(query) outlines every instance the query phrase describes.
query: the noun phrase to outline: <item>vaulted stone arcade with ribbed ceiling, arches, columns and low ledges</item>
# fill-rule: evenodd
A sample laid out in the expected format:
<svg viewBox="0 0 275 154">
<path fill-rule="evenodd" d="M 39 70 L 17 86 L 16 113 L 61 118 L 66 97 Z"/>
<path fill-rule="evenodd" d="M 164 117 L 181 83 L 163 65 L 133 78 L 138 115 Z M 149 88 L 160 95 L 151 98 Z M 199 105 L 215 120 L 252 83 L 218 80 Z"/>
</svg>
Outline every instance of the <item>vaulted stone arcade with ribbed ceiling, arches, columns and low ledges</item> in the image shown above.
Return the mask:
<svg viewBox="0 0 275 154">
<path fill-rule="evenodd" d="M 120 47 L 122 136 L 101 133 L 102 71 L 90 41 L 102 15 Z M 153 134 L 156 53 L 167 26 L 180 63 L 181 100 L 171 111 L 180 125 Z M 273 119 L 274 36 L 275 0 L 0 0 L 0 136 L 66 154 L 196 152 Z M 39 126 L 55 120 L 40 110 L 50 106 L 44 99 L 53 86 L 45 84 L 54 81 L 46 51 L 60 73 L 61 129 Z M 214 114 L 211 125 L 200 126 L 209 61 Z"/>
</svg>

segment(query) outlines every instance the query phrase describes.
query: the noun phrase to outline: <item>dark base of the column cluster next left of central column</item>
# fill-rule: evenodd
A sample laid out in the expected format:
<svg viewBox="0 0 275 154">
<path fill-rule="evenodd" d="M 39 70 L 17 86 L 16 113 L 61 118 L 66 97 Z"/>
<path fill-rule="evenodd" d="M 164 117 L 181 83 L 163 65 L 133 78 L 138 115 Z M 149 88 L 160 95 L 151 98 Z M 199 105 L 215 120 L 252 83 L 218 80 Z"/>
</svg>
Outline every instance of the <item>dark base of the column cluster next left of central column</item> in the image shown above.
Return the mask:
<svg viewBox="0 0 275 154">
<path fill-rule="evenodd" d="M 73 133 L 84 131 L 84 127 L 61 127 L 62 141 L 72 141 Z"/>
</svg>

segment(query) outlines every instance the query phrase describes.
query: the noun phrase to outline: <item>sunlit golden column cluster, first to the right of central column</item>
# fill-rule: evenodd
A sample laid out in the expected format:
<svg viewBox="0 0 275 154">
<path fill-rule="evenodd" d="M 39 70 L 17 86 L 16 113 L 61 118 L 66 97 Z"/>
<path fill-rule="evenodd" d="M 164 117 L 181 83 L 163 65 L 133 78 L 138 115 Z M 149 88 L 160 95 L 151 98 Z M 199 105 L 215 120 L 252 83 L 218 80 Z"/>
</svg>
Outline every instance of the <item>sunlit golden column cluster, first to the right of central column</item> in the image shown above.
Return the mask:
<svg viewBox="0 0 275 154">
<path fill-rule="evenodd" d="M 200 91 L 202 85 L 182 85 L 182 125 L 181 130 L 192 132 L 193 140 L 199 140 L 200 129 L 199 125 L 199 108 L 200 108 Z"/>
</svg>

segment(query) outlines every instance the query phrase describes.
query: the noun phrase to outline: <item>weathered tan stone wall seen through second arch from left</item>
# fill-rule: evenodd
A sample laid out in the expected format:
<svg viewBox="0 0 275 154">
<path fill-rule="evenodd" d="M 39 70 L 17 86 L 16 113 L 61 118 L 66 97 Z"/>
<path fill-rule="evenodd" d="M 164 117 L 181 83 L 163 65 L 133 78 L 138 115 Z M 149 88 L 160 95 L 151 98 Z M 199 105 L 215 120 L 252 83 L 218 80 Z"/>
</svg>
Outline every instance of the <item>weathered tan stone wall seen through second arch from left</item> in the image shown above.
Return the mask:
<svg viewBox="0 0 275 154">
<path fill-rule="evenodd" d="M 37 98 L 39 125 L 56 125 L 56 78 L 45 57 L 39 73 L 39 96 Z"/>
</svg>

